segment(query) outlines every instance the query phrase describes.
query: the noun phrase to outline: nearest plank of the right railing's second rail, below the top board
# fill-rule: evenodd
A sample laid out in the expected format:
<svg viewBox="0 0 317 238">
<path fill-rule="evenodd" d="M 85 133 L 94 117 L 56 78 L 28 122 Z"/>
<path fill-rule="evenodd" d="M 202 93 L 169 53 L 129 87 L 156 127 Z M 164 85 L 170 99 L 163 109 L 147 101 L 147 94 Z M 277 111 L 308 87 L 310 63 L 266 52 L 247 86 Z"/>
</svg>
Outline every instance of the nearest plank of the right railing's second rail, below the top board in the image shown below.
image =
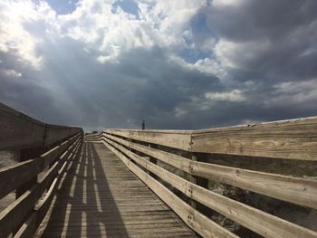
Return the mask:
<svg viewBox="0 0 317 238">
<path fill-rule="evenodd" d="M 248 169 L 192 163 L 191 174 L 238 186 L 262 195 L 317 209 L 317 180 L 281 176 Z"/>
</svg>

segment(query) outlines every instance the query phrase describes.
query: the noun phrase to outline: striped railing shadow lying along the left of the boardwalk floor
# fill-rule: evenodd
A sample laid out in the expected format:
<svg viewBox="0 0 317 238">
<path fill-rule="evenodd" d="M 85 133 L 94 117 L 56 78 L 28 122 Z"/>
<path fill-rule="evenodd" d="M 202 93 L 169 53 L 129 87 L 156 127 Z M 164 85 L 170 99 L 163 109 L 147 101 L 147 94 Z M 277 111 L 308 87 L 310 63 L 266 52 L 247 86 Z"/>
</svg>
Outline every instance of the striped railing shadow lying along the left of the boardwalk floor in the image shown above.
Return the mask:
<svg viewBox="0 0 317 238">
<path fill-rule="evenodd" d="M 84 143 L 80 156 L 75 157 L 43 232 L 43 237 L 62 235 L 129 237 L 101 157 L 91 143 Z"/>
</svg>

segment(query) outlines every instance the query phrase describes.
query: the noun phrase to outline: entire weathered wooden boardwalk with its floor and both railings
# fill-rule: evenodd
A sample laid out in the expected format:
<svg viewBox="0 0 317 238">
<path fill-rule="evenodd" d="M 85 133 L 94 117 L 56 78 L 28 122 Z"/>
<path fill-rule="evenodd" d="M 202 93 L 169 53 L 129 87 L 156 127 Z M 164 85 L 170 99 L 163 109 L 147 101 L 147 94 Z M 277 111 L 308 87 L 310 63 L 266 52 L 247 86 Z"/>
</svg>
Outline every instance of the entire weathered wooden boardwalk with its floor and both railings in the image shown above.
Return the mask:
<svg viewBox="0 0 317 238">
<path fill-rule="evenodd" d="M 317 117 L 83 136 L 0 103 L 0 150 L 18 153 L 0 169 L 0 199 L 16 196 L 0 211 L 0 237 L 236 238 L 248 229 L 250 237 L 317 238 L 316 138 Z M 219 194 L 209 182 L 250 193 Z"/>
</svg>

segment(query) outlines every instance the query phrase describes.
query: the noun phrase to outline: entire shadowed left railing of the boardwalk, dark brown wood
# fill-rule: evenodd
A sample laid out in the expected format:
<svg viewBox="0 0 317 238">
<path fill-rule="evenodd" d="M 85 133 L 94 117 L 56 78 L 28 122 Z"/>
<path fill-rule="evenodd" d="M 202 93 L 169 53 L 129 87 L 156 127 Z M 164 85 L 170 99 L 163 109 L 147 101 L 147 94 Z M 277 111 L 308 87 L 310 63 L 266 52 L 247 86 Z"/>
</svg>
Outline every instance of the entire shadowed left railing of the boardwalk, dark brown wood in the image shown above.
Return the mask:
<svg viewBox="0 0 317 238">
<path fill-rule="evenodd" d="M 20 153 L 19 163 L 0 169 L 0 199 L 16 194 L 0 213 L 0 237 L 33 236 L 81 144 L 81 128 L 44 124 L 0 103 L 0 149 Z"/>
</svg>

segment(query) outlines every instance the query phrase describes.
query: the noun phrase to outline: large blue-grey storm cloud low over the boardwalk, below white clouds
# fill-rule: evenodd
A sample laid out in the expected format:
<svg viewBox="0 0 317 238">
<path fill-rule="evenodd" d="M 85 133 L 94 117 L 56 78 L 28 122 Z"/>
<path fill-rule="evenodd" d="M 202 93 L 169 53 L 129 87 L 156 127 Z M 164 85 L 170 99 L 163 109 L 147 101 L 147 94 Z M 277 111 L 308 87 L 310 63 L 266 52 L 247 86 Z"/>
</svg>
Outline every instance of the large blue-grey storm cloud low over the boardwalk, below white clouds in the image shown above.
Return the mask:
<svg viewBox="0 0 317 238">
<path fill-rule="evenodd" d="M 49 42 L 38 45 L 46 55 L 41 72 L 19 68 L 18 62 L 6 65 L 19 69 L 24 77 L 5 80 L 3 90 L 7 93 L 1 100 L 19 105 L 37 118 L 45 115 L 49 122 L 90 129 L 133 128 L 141 119 L 153 128 L 171 128 L 175 107 L 192 96 L 222 87 L 214 76 L 170 62 L 161 48 L 131 50 L 122 53 L 118 62 L 107 64 L 96 62 L 82 48 L 82 43 L 72 39 L 64 39 L 58 49 Z M 36 79 L 28 81 L 25 75 Z M 41 81 L 50 83 L 49 93 L 37 85 Z M 15 93 L 19 97 L 14 98 Z"/>
</svg>

